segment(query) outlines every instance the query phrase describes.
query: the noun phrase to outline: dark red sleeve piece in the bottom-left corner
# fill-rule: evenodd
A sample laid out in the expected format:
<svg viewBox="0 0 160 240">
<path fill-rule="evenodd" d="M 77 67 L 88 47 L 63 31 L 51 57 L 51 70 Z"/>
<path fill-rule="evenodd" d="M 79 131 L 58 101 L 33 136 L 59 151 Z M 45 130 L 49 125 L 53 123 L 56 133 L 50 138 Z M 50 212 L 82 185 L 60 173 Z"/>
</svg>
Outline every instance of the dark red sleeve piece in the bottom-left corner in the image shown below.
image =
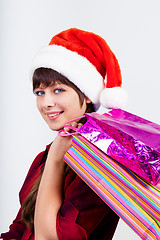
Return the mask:
<svg viewBox="0 0 160 240">
<path fill-rule="evenodd" d="M 25 225 L 21 221 L 21 208 L 20 208 L 16 219 L 13 221 L 13 223 L 9 227 L 9 232 L 2 233 L 0 238 L 2 238 L 2 239 L 21 239 L 24 229 L 25 229 Z"/>
</svg>

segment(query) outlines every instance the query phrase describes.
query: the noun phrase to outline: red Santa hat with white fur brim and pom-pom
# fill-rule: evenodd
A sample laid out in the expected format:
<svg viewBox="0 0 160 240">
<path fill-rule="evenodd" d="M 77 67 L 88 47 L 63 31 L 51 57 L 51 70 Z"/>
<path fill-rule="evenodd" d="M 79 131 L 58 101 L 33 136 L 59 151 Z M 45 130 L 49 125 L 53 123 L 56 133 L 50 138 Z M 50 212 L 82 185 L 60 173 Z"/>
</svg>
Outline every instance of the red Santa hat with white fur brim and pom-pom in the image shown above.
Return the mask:
<svg viewBox="0 0 160 240">
<path fill-rule="evenodd" d="M 40 67 L 66 76 L 95 105 L 122 108 L 126 93 L 118 61 L 107 43 L 92 32 L 71 28 L 55 35 L 32 63 L 32 73 Z"/>
</svg>

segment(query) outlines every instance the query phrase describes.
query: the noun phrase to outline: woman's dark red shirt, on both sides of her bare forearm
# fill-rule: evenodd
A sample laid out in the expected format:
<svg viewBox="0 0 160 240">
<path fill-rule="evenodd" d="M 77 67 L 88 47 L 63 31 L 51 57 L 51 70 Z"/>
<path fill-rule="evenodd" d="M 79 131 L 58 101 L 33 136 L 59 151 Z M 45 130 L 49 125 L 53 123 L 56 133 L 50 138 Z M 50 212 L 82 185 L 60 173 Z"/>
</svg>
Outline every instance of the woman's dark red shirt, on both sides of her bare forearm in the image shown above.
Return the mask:
<svg viewBox="0 0 160 240">
<path fill-rule="evenodd" d="M 46 161 L 49 145 L 32 163 L 19 193 L 24 202 Z M 111 240 L 119 217 L 69 168 L 64 181 L 64 200 L 57 215 L 59 240 Z M 34 240 L 21 220 L 21 208 L 2 239 Z"/>
</svg>

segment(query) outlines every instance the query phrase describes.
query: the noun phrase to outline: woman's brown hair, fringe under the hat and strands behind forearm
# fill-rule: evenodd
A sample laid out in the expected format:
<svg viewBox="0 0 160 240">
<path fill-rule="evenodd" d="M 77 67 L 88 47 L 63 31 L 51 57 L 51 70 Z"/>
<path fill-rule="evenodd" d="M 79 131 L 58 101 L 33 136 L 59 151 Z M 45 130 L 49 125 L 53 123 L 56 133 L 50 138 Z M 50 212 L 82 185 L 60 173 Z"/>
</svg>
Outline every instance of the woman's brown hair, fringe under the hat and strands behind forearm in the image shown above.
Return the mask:
<svg viewBox="0 0 160 240">
<path fill-rule="evenodd" d="M 71 81 L 69 81 L 65 76 L 58 73 L 57 71 L 50 69 L 50 68 L 38 68 L 35 70 L 33 74 L 33 91 L 40 86 L 42 83 L 45 87 L 53 85 L 55 82 L 61 82 L 63 84 L 69 85 L 72 87 L 78 94 L 80 105 L 82 106 L 85 95 L 81 92 L 81 90 L 75 86 Z M 94 106 L 92 103 L 87 104 L 86 112 L 94 112 Z M 82 123 L 85 122 L 83 118 L 81 120 Z M 39 184 L 41 181 L 41 177 L 43 174 L 43 169 L 41 169 L 41 174 L 38 179 L 35 181 L 30 193 L 28 194 L 27 198 L 25 199 L 22 205 L 22 221 L 29 227 L 31 232 L 34 231 L 34 211 L 35 211 L 35 204 L 37 193 L 39 189 Z"/>
</svg>

